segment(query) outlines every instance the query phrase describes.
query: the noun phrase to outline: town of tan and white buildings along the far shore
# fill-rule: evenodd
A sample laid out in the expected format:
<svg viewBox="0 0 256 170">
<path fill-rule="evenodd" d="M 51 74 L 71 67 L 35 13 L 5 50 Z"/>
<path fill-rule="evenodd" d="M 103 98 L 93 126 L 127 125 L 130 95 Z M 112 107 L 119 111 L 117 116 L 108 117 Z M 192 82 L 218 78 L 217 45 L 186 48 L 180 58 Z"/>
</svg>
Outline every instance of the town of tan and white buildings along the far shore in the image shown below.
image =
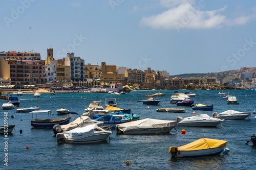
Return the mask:
<svg viewBox="0 0 256 170">
<path fill-rule="evenodd" d="M 107 63 L 111 64 L 111 63 Z M 126 68 L 125 66 L 85 64 L 74 53 L 55 60 L 53 48 L 47 48 L 47 58 L 41 60 L 40 53 L 0 52 L 0 87 L 8 85 L 41 85 L 48 83 L 76 83 L 79 86 L 118 87 L 129 85 L 144 89 L 199 89 L 204 86 L 229 85 L 255 88 L 256 67 L 231 70 L 222 79 L 216 77 L 169 78 L 165 70 Z M 45 85 L 47 86 L 47 85 Z M 111 87 L 110 87 L 111 88 Z"/>
</svg>

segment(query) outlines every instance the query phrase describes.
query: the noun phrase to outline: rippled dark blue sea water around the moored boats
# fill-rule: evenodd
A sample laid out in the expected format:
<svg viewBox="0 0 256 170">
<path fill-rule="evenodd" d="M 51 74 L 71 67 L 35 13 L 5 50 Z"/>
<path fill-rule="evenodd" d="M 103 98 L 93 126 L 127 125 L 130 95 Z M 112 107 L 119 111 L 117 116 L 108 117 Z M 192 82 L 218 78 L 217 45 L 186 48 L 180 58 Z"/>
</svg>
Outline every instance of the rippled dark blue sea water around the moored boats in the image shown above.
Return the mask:
<svg viewBox="0 0 256 170">
<path fill-rule="evenodd" d="M 256 134 L 256 110 L 255 90 L 223 90 L 236 95 L 238 105 L 227 105 L 223 95 L 218 95 L 218 90 L 189 90 L 195 92 L 195 104 L 214 104 L 214 111 L 195 111 L 185 107 L 185 113 L 156 112 L 158 108 L 177 107 L 170 104 L 170 96 L 175 91 L 184 93 L 187 90 L 142 90 L 131 91 L 125 95 L 109 95 L 108 93 L 62 93 L 41 94 L 40 98 L 34 98 L 33 94 L 23 94 L 19 108 L 38 106 L 40 110 L 52 110 L 52 118 L 65 117 L 57 115 L 60 108 L 69 109 L 78 114 L 84 113 L 91 101 L 102 101 L 116 98 L 117 107 L 130 109 L 134 114 L 140 115 L 140 119 L 155 118 L 163 120 L 176 120 L 177 116 L 189 117 L 206 113 L 212 113 L 232 109 L 236 111 L 249 111 L 251 116 L 244 120 L 224 120 L 222 127 L 180 127 L 171 130 L 164 135 L 117 135 L 112 128 L 110 139 L 106 141 L 88 144 L 58 144 L 52 129 L 36 129 L 30 124 L 31 113 L 15 113 L 13 110 L 0 110 L 0 125 L 4 125 L 4 112 L 8 112 L 8 124 L 15 124 L 15 130 L 8 134 L 8 151 L 5 150 L 6 137 L 1 135 L 0 169 L 255 169 L 256 146 L 250 140 L 252 134 Z M 161 102 L 157 106 L 143 105 L 138 100 L 146 98 L 146 94 L 157 92 L 165 96 L 157 96 Z M 9 94 L 10 95 L 10 94 Z M 16 96 L 17 94 L 12 94 Z M 7 101 L 0 101 L 0 106 Z M 182 106 L 179 106 L 182 108 Z M 184 108 L 184 106 L 183 106 Z M 13 118 L 12 118 L 13 117 Z M 77 115 L 75 115 L 75 118 Z M 38 114 L 38 118 L 48 118 L 47 113 Z M 181 134 L 181 130 L 185 134 Z M 22 130 L 22 133 L 20 133 Z M 171 158 L 169 147 L 180 147 L 199 138 L 213 138 L 226 140 L 228 154 L 217 156 L 205 156 L 194 158 Z M 29 149 L 26 147 L 29 146 Z M 4 162 L 5 154 L 8 154 L 8 166 Z M 129 160 L 130 165 L 125 161 Z"/>
</svg>

